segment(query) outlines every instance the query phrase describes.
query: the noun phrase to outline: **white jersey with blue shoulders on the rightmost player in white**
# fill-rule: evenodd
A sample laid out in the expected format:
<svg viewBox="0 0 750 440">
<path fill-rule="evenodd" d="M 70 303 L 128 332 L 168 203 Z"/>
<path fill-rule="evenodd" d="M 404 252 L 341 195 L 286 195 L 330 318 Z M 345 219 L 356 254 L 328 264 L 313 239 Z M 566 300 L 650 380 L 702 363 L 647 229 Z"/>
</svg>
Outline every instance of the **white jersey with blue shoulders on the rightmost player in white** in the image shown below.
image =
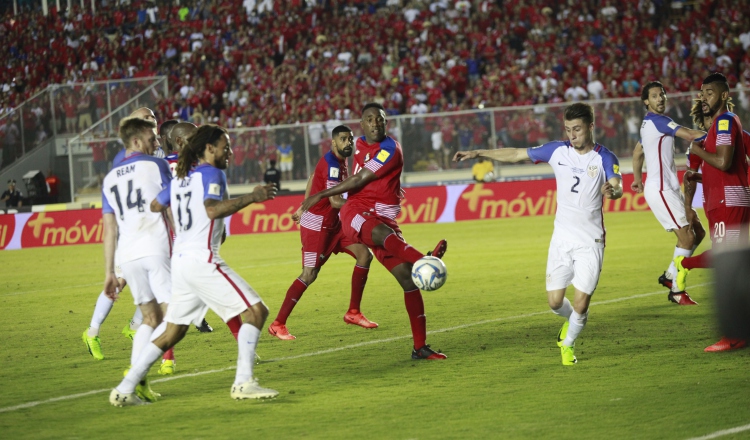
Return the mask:
<svg viewBox="0 0 750 440">
<path fill-rule="evenodd" d="M 648 112 L 641 124 L 641 145 L 646 158 L 645 188 L 679 191 L 680 179 L 674 164 L 674 137 L 681 127 L 665 115 Z"/>
</svg>

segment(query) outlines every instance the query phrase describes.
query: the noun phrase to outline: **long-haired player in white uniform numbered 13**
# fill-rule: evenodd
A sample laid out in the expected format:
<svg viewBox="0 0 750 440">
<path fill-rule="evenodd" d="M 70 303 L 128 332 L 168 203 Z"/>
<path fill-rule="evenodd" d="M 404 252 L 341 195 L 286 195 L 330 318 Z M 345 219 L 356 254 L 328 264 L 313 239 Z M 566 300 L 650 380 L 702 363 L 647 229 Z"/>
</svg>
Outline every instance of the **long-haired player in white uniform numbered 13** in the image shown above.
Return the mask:
<svg viewBox="0 0 750 440">
<path fill-rule="evenodd" d="M 232 156 L 229 135 L 216 125 L 204 125 L 180 153 L 177 177 L 151 203 L 152 211 L 171 207 L 177 240 L 172 257 L 172 301 L 167 311 L 166 331 L 149 343 L 125 379 L 112 390 L 114 406 L 139 405 L 135 394 L 148 369 L 164 352 L 177 344 L 191 323 L 199 322 L 208 308 L 224 321 L 238 314 L 242 324 L 237 342 L 237 373 L 230 395 L 234 399 L 269 398 L 278 392 L 262 388 L 253 378 L 255 347 L 268 308 L 245 280 L 219 256 L 224 218 L 251 203 L 272 199 L 273 185 L 257 186 L 251 194 L 229 199 L 226 175 Z M 197 166 L 193 168 L 193 165 Z"/>
</svg>

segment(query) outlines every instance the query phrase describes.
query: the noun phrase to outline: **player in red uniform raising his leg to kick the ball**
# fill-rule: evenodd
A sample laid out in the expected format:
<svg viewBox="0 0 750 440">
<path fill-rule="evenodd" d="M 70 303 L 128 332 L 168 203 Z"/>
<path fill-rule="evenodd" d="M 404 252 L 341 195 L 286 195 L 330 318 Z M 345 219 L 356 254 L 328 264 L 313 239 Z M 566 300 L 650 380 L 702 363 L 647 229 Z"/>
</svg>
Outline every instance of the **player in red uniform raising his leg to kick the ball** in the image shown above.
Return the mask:
<svg viewBox="0 0 750 440">
<path fill-rule="evenodd" d="M 385 109 L 369 103 L 362 109 L 362 130 L 354 154 L 352 176 L 333 188 L 311 195 L 295 215 L 306 212 L 324 198 L 348 192 L 341 208 L 344 235 L 372 249 L 375 258 L 388 269 L 404 289 L 406 312 L 409 314 L 414 349 L 412 359 L 445 359 L 426 343 L 427 324 L 422 293 L 411 279 L 411 267 L 424 254 L 403 240 L 396 217 L 401 211 L 401 172 L 404 157 L 401 145 L 386 135 Z M 430 255 L 441 258 L 448 247 L 440 240 Z"/>
</svg>

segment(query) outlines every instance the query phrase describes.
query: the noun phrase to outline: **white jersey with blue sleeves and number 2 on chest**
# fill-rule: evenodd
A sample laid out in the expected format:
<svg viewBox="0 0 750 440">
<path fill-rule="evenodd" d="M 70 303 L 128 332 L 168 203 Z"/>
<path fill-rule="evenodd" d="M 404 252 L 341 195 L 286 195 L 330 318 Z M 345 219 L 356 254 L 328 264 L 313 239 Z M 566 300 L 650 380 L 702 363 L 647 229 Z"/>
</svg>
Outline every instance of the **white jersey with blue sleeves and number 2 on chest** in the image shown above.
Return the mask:
<svg viewBox="0 0 750 440">
<path fill-rule="evenodd" d="M 548 162 L 555 172 L 557 213 L 552 240 L 604 247 L 601 187 L 613 177 L 622 178 L 617 156 L 599 144 L 579 154 L 568 141 L 549 142 L 527 152 L 534 163 Z"/>
</svg>

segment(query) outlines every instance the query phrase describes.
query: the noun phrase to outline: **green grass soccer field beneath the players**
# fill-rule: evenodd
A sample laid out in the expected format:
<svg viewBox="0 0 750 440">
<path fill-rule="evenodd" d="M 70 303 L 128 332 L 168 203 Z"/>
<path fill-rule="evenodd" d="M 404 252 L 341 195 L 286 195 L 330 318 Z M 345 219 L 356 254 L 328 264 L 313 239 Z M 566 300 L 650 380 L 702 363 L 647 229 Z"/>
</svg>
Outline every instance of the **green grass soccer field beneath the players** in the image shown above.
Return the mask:
<svg viewBox="0 0 750 440">
<path fill-rule="evenodd" d="M 424 293 L 428 343 L 448 360 L 411 360 L 403 293 L 376 262 L 363 311 L 380 328 L 345 325 L 354 261 L 340 255 L 289 319 L 297 340 L 264 329 L 255 375 L 281 394 L 263 402 L 229 398 L 237 347 L 209 313 L 214 333 L 192 329 L 177 346 L 178 374 L 160 381 L 152 370 L 159 402 L 110 406 L 129 363 L 120 329 L 134 306 L 128 291 L 101 329 L 107 359 L 95 361 L 80 335 L 101 290 L 101 246 L 0 252 L 0 437 L 685 439 L 750 423 L 750 350 L 703 352 L 719 336 L 710 274 L 691 274 L 699 306 L 671 304 L 656 278 L 673 235 L 650 212 L 605 222 L 604 271 L 577 365 L 560 364 L 562 320 L 546 303 L 551 217 L 406 226 L 420 249 L 450 243 L 447 284 Z M 299 275 L 299 248 L 296 233 L 234 236 L 222 255 L 272 318 Z M 42 403 L 19 407 L 30 402 Z"/>
</svg>

